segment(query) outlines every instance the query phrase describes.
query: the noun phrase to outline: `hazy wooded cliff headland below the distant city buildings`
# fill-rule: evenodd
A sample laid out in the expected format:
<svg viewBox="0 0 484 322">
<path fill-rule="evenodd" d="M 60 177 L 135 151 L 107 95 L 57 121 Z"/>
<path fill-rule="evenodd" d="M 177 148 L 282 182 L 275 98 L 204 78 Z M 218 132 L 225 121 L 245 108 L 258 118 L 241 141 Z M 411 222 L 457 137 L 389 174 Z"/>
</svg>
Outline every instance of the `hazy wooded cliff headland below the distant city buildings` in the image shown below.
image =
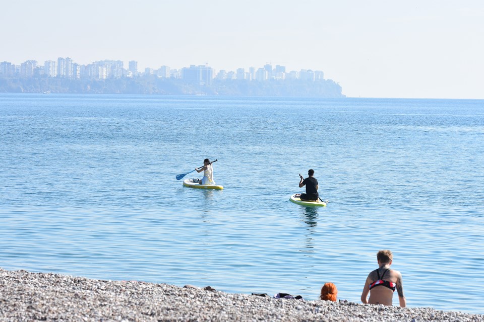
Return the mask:
<svg viewBox="0 0 484 322">
<path fill-rule="evenodd" d="M 144 75 L 133 78 L 70 79 L 63 77 L 0 78 L 0 93 L 165 94 L 221 96 L 345 97 L 331 79 L 270 80 L 213 79 L 211 84 L 186 83 L 177 78 Z"/>
</svg>

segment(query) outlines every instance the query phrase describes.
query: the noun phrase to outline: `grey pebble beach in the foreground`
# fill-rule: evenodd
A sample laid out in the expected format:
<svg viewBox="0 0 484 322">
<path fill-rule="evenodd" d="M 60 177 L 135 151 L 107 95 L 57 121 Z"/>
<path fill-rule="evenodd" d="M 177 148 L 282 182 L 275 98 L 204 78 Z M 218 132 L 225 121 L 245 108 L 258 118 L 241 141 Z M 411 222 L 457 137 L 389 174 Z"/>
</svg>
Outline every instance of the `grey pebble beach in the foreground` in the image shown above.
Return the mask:
<svg viewBox="0 0 484 322">
<path fill-rule="evenodd" d="M 269 294 L 272 295 L 272 294 Z M 484 321 L 484 314 L 299 301 L 0 268 L 0 321 Z"/>
</svg>

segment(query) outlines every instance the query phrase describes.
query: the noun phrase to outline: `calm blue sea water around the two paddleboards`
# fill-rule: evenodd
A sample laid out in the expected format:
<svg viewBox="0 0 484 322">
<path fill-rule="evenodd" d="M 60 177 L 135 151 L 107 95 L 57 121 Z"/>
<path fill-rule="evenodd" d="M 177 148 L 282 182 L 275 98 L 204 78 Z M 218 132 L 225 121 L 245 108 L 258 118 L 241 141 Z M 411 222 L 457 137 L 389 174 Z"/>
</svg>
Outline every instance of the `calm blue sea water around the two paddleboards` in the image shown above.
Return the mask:
<svg viewBox="0 0 484 322">
<path fill-rule="evenodd" d="M 0 142 L 4 269 L 359 302 L 390 249 L 409 306 L 484 313 L 482 100 L 0 94 Z M 175 180 L 205 157 L 223 191 Z"/>
</svg>

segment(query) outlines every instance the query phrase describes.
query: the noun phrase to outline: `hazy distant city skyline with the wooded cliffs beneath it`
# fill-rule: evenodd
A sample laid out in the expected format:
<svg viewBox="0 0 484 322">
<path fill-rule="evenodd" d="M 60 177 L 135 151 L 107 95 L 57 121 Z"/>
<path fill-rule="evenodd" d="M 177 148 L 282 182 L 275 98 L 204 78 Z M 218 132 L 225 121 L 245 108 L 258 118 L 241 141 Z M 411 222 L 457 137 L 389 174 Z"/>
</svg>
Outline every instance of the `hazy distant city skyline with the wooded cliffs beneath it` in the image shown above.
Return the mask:
<svg viewBox="0 0 484 322">
<path fill-rule="evenodd" d="M 0 93 L 160 94 L 214 96 L 286 96 L 342 98 L 342 88 L 325 79 L 322 70 L 286 71 L 282 65 L 239 67 L 235 71 L 190 65 L 172 69 L 146 67 L 138 62 L 99 60 L 81 65 L 70 57 L 29 59 L 16 65 L 0 61 Z"/>
</svg>

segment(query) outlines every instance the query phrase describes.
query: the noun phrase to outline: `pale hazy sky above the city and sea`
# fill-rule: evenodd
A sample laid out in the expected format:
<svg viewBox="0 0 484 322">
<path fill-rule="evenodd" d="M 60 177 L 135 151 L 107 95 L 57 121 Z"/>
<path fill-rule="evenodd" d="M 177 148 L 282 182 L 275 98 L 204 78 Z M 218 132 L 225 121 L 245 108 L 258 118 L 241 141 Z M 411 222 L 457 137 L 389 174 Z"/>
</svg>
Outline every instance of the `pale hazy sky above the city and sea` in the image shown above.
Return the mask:
<svg viewBox="0 0 484 322">
<path fill-rule="evenodd" d="M 323 70 L 348 97 L 484 99 L 484 1 L 6 0 L 0 61 Z"/>
</svg>

